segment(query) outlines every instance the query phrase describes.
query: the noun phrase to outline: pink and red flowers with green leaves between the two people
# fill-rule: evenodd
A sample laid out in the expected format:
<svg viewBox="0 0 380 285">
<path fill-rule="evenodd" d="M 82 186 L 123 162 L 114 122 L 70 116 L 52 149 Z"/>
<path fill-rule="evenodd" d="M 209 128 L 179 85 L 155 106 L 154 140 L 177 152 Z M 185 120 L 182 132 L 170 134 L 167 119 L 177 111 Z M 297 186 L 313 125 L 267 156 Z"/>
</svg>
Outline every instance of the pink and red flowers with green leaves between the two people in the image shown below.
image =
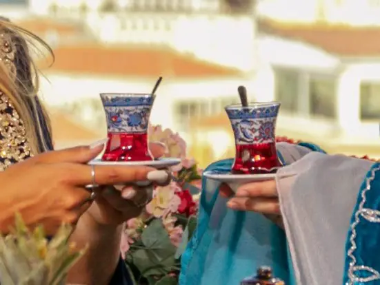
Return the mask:
<svg viewBox="0 0 380 285">
<path fill-rule="evenodd" d="M 149 138 L 166 147 L 165 157 L 181 158 L 173 180 L 156 187 L 139 218 L 126 222 L 121 252 L 134 284 L 178 284 L 181 254 L 196 226 L 201 172 L 188 158 L 186 142 L 170 129 L 150 126 Z"/>
</svg>

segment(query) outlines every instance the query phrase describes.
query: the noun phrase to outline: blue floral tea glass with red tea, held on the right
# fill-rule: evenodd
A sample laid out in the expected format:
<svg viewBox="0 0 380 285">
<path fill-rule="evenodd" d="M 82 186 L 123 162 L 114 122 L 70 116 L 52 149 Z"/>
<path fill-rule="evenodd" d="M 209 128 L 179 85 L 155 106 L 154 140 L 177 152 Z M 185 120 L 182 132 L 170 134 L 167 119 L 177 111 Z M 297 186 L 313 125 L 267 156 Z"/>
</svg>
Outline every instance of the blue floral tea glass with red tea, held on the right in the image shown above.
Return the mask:
<svg viewBox="0 0 380 285">
<path fill-rule="evenodd" d="M 278 102 L 226 107 L 236 147 L 232 173 L 273 173 L 281 166 L 274 134 L 279 108 Z"/>
</svg>

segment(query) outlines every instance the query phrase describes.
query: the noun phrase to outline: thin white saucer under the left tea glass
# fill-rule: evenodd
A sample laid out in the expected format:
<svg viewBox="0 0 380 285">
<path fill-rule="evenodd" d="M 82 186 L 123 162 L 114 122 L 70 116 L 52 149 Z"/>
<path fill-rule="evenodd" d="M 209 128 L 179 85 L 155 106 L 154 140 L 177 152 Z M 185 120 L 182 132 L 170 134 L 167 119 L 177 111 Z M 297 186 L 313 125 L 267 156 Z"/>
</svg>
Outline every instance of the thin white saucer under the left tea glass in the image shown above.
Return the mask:
<svg viewBox="0 0 380 285">
<path fill-rule="evenodd" d="M 150 166 L 157 169 L 178 165 L 181 158 L 160 158 L 159 160 L 146 161 L 103 161 L 100 158 L 95 158 L 88 162 L 88 165 L 125 165 L 125 166 Z"/>
</svg>

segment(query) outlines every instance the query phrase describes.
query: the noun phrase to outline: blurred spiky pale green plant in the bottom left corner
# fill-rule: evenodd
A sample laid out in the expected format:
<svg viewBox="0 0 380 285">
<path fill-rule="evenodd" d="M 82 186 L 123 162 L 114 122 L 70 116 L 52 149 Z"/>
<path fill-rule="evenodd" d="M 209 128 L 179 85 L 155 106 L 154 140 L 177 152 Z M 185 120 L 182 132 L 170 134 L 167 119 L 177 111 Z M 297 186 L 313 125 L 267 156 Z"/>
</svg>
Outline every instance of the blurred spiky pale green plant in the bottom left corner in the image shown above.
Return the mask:
<svg viewBox="0 0 380 285">
<path fill-rule="evenodd" d="M 71 233 L 72 226 L 62 225 L 48 241 L 42 226 L 29 231 L 17 214 L 14 231 L 0 235 L 1 284 L 66 284 L 69 269 L 86 251 L 68 242 Z"/>
</svg>

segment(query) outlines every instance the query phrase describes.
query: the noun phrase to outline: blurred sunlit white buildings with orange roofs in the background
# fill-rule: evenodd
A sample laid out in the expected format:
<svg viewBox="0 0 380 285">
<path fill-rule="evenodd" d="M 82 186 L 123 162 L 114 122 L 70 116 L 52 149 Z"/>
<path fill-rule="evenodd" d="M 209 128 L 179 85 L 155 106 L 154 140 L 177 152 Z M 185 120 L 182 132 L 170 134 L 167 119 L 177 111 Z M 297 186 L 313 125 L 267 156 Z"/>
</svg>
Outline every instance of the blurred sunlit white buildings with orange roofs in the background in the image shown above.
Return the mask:
<svg viewBox="0 0 380 285">
<path fill-rule="evenodd" d="M 150 92 L 201 166 L 234 156 L 224 107 L 281 101 L 277 134 L 380 158 L 380 0 L 0 0 L 48 42 L 58 148 L 106 136 L 100 92 Z"/>
</svg>

